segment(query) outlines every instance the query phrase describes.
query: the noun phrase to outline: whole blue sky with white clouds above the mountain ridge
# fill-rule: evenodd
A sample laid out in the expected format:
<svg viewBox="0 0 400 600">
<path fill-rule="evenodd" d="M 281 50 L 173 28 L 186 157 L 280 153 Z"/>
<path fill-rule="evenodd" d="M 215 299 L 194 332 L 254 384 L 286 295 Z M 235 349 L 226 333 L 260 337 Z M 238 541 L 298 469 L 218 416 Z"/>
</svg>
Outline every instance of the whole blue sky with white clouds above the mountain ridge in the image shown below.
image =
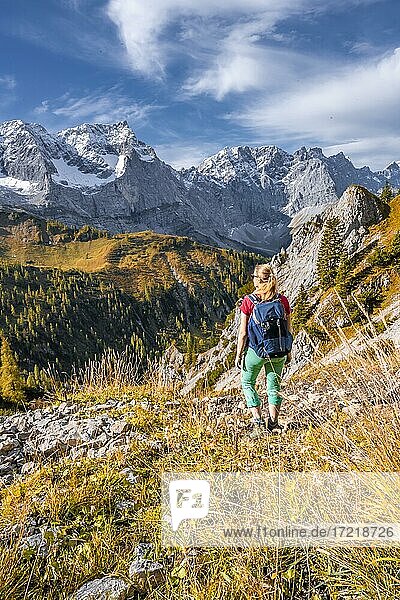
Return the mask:
<svg viewBox="0 0 400 600">
<path fill-rule="evenodd" d="M 398 0 L 2 0 L 0 120 L 127 119 L 179 168 L 224 146 L 400 160 Z"/>
</svg>

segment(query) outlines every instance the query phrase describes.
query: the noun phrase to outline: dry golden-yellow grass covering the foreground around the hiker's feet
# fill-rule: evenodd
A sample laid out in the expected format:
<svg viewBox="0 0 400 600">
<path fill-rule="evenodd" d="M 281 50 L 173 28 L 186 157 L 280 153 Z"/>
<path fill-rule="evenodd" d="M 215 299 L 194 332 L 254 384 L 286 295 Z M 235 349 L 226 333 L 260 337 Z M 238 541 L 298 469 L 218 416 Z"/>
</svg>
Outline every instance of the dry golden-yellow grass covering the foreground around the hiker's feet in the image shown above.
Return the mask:
<svg viewBox="0 0 400 600">
<path fill-rule="evenodd" d="M 47 558 L 18 549 L 18 535 L 0 557 L 0 595 L 64 599 L 87 580 L 115 573 L 126 576 L 137 542 L 155 544 L 157 558 L 167 566 L 167 578 L 149 598 L 159 600 L 395 600 L 399 593 L 400 554 L 396 548 L 203 549 L 189 555 L 184 548 L 160 547 L 160 485 L 163 470 L 186 471 L 398 471 L 400 470 L 398 404 L 390 400 L 398 355 L 376 348 L 376 357 L 355 357 L 335 371 L 324 369 L 313 391 L 327 402 L 343 400 L 344 382 L 352 389 L 349 400 L 365 402 L 365 389 L 379 388 L 387 405 L 374 410 L 367 404 L 351 416 L 334 411 L 321 420 L 303 408 L 308 427 L 250 441 L 243 434 L 248 416 L 227 414 L 218 422 L 207 415 L 207 400 L 185 398 L 157 388 L 154 380 L 141 388 L 125 388 L 120 397 L 139 400 L 118 409 L 163 451 L 145 441 L 131 444 L 127 454 L 105 459 L 65 460 L 40 471 L 2 492 L 2 527 L 40 517 L 59 529 Z M 371 360 L 374 368 L 371 371 Z M 288 384 L 286 394 L 305 394 L 306 382 Z M 339 388 L 338 389 L 338 384 Z M 92 403 L 116 397 L 113 389 L 72 399 L 90 410 Z M 144 408 L 140 400 L 146 397 Z M 171 401 L 173 403 L 171 404 Z M 287 400 L 285 410 L 296 400 Z M 132 414 L 133 411 L 133 414 Z M 321 411 L 322 412 L 322 411 Z M 98 414 L 98 413 L 96 413 Z M 130 485 L 122 469 L 139 476 Z M 121 511 L 118 502 L 130 500 Z M 29 590 L 29 591 L 28 591 Z M 25 594 L 28 593 L 28 596 Z"/>
</svg>

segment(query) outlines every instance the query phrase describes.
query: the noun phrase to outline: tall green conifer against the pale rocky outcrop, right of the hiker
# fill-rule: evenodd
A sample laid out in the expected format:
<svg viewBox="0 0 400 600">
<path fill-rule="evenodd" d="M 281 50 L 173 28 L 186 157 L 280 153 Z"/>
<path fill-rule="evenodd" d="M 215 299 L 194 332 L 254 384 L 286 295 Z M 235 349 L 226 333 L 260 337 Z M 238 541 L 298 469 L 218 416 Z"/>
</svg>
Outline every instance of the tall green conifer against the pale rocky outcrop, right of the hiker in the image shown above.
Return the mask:
<svg viewBox="0 0 400 600">
<path fill-rule="evenodd" d="M 324 225 L 317 258 L 317 273 L 323 289 L 334 285 L 342 254 L 339 219 L 328 219 Z"/>
</svg>

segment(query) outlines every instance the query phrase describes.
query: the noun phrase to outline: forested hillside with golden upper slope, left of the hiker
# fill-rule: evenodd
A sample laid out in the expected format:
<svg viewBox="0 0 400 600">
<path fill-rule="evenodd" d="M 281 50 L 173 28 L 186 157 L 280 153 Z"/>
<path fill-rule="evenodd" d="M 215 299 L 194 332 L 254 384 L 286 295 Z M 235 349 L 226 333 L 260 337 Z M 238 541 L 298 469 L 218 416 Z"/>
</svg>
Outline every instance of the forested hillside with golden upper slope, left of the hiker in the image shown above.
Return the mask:
<svg viewBox="0 0 400 600">
<path fill-rule="evenodd" d="M 107 348 L 128 347 L 144 368 L 172 340 L 207 347 L 255 258 L 153 232 L 110 238 L 17 211 L 2 211 L 0 225 L 0 327 L 36 383 L 49 364 L 68 375 Z"/>
</svg>

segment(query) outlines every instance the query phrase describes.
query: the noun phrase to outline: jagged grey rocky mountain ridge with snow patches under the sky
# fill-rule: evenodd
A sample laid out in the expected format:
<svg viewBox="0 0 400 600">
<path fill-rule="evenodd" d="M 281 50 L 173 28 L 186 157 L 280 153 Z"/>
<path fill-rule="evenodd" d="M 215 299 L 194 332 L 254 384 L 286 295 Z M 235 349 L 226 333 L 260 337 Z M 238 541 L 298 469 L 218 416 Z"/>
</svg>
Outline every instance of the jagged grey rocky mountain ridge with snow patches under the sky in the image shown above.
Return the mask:
<svg viewBox="0 0 400 600">
<path fill-rule="evenodd" d="M 176 171 L 127 121 L 57 133 L 21 120 L 0 124 L 0 204 L 110 233 L 154 230 L 273 255 L 299 211 L 321 211 L 350 184 L 400 187 L 400 167 L 357 169 L 343 153 L 293 154 L 277 146 L 226 147 Z M 319 208 L 320 207 L 320 208 Z"/>
</svg>

